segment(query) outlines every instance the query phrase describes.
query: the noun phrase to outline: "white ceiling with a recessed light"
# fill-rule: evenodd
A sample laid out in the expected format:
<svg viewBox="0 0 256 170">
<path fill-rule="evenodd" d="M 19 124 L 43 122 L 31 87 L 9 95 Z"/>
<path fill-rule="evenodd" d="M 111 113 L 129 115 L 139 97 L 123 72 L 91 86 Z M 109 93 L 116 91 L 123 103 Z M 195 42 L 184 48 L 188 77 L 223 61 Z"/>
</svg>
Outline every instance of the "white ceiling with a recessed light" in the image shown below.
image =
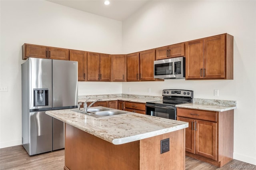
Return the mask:
<svg viewBox="0 0 256 170">
<path fill-rule="evenodd" d="M 89 12 L 106 18 L 123 21 L 132 13 L 139 10 L 148 0 L 109 0 L 105 5 L 104 0 L 47 0 L 63 6 L 68 6 L 84 12 Z"/>
</svg>

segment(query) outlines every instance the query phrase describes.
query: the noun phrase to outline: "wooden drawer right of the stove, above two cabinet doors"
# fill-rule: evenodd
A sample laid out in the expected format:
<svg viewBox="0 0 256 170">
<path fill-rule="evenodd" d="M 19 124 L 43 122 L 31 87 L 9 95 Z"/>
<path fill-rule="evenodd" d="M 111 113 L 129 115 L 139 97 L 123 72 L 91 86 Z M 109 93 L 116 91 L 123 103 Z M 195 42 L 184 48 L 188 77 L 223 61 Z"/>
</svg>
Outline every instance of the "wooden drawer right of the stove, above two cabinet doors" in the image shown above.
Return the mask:
<svg viewBox="0 0 256 170">
<path fill-rule="evenodd" d="M 217 114 L 214 111 L 199 111 L 194 109 L 177 108 L 177 116 L 201 119 L 205 121 L 217 121 Z"/>
</svg>

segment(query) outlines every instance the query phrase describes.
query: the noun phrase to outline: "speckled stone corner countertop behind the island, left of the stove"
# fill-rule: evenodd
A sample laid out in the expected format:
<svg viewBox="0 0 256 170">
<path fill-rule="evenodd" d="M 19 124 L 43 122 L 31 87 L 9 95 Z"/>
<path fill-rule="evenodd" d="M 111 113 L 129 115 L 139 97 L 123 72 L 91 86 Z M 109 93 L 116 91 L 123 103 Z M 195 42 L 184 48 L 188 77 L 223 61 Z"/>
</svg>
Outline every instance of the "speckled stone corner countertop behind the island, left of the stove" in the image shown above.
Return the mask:
<svg viewBox="0 0 256 170">
<path fill-rule="evenodd" d="M 90 99 L 89 99 L 90 98 Z M 79 96 L 78 102 L 87 102 L 95 101 L 96 99 L 102 99 L 102 101 L 131 101 L 138 103 L 146 103 L 147 101 L 159 101 L 162 100 L 162 97 L 159 96 L 144 96 L 144 95 L 129 95 L 129 94 L 114 94 L 114 95 L 87 95 L 87 96 Z"/>
</svg>

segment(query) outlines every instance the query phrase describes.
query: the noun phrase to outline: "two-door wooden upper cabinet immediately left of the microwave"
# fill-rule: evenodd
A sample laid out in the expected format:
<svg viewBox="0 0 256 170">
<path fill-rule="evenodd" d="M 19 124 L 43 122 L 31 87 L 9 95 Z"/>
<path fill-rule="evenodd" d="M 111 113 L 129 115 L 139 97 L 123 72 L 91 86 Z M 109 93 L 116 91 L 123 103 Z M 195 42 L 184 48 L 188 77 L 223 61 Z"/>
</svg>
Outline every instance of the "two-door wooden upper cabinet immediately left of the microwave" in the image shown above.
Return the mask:
<svg viewBox="0 0 256 170">
<path fill-rule="evenodd" d="M 154 49 L 128 54 L 127 81 L 154 81 L 154 60 Z"/>
</svg>

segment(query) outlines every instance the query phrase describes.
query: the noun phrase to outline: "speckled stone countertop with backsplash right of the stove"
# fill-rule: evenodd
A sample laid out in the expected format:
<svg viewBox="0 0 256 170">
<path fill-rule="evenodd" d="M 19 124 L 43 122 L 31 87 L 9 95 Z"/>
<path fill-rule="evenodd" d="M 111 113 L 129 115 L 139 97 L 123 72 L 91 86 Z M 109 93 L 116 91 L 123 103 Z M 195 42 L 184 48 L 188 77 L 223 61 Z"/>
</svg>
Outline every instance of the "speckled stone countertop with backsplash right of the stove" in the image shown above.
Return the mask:
<svg viewBox="0 0 256 170">
<path fill-rule="evenodd" d="M 223 112 L 236 109 L 236 101 L 193 99 L 193 103 L 180 104 L 176 105 L 176 107 Z"/>
</svg>

